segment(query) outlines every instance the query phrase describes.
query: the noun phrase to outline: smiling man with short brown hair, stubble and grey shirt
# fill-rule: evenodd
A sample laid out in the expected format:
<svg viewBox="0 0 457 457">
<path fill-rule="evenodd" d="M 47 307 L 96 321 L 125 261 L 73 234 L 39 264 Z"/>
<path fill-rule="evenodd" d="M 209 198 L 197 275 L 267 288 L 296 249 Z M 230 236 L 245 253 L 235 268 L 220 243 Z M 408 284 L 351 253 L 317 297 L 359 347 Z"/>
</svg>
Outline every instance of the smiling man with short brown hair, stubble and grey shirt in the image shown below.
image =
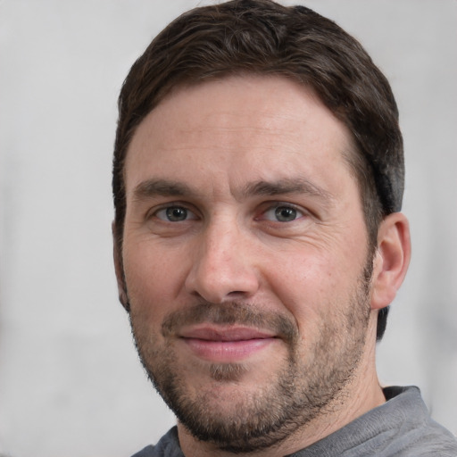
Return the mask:
<svg viewBox="0 0 457 457">
<path fill-rule="evenodd" d="M 187 12 L 120 94 L 120 302 L 177 428 L 145 456 L 457 455 L 375 346 L 411 247 L 391 89 L 303 6 Z"/>
</svg>

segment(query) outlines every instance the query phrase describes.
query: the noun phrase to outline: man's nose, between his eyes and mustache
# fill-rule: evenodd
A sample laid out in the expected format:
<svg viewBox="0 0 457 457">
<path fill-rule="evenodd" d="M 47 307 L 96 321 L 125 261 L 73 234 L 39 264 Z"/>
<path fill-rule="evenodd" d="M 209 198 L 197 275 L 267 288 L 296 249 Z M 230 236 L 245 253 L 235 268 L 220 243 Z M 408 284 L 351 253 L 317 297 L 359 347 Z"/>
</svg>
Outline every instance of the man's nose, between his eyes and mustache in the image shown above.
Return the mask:
<svg viewBox="0 0 457 457">
<path fill-rule="evenodd" d="M 227 223 L 213 224 L 200 233 L 186 278 L 187 293 L 211 303 L 247 300 L 254 295 L 259 272 L 248 238 Z"/>
</svg>

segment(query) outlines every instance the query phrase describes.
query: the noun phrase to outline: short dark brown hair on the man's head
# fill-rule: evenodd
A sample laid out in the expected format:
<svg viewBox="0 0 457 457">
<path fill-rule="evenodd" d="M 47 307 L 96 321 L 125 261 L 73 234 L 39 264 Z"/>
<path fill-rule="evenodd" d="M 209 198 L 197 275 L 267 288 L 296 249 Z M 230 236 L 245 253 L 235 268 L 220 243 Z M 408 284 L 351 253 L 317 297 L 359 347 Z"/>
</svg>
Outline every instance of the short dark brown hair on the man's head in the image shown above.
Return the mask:
<svg viewBox="0 0 457 457">
<path fill-rule="evenodd" d="M 137 126 L 174 87 L 240 73 L 295 79 L 345 123 L 354 145 L 346 159 L 374 248 L 380 221 L 400 211 L 403 198 L 403 139 L 392 90 L 359 42 L 335 22 L 270 0 L 232 0 L 186 12 L 132 66 L 120 91 L 113 158 L 118 248 L 126 211 L 124 162 Z M 378 316 L 378 339 L 386 314 Z"/>
</svg>

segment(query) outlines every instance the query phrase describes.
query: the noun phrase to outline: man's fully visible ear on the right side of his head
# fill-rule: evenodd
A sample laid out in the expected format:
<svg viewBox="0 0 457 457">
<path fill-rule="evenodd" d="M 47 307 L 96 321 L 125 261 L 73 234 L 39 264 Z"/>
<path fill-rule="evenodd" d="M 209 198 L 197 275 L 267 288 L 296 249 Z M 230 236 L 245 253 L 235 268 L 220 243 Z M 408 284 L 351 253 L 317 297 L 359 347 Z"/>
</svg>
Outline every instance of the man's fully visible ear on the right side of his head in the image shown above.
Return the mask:
<svg viewBox="0 0 457 457">
<path fill-rule="evenodd" d="M 411 259 L 410 227 L 406 216 L 393 212 L 378 229 L 374 259 L 371 309 L 380 310 L 394 301 Z"/>
</svg>

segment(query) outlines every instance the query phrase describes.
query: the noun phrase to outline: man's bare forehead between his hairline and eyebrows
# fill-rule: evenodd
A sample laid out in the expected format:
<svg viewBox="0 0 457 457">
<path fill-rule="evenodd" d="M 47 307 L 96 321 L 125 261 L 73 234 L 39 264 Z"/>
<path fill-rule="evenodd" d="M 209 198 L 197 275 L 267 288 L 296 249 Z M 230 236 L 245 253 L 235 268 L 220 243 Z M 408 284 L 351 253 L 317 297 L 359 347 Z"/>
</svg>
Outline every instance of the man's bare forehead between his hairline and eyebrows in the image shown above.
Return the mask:
<svg viewBox="0 0 457 457">
<path fill-rule="evenodd" d="M 284 179 L 297 165 L 312 174 L 345 164 L 351 149 L 345 125 L 311 89 L 278 76 L 229 77 L 179 87 L 146 116 L 129 145 L 125 182 L 129 189 L 170 172 Z"/>
</svg>

